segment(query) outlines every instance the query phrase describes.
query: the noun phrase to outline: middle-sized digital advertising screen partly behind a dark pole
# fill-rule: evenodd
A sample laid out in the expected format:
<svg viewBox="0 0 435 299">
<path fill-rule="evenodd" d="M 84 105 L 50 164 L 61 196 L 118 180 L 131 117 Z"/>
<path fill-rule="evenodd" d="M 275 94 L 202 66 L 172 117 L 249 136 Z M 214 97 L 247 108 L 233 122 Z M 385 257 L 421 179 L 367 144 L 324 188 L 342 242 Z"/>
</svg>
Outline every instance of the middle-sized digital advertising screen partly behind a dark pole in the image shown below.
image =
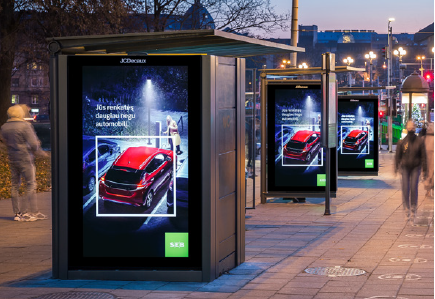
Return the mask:
<svg viewBox="0 0 435 299">
<path fill-rule="evenodd" d="M 267 88 L 268 190 L 325 191 L 320 82 L 269 84 Z M 332 153 L 331 165 L 335 165 L 335 149 Z M 336 191 L 335 167 L 331 169 L 331 191 Z"/>
</svg>

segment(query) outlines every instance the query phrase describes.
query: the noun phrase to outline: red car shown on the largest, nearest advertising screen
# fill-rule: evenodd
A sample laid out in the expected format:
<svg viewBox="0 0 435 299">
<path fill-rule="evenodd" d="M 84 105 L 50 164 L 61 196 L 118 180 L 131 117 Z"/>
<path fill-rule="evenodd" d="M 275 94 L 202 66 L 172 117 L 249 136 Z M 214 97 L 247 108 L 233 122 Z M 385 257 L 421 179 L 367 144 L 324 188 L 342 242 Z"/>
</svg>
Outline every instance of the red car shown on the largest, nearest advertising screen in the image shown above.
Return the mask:
<svg viewBox="0 0 435 299">
<path fill-rule="evenodd" d="M 149 208 L 156 192 L 172 179 L 173 151 L 139 146 L 126 149 L 101 177 L 103 201 Z"/>
</svg>

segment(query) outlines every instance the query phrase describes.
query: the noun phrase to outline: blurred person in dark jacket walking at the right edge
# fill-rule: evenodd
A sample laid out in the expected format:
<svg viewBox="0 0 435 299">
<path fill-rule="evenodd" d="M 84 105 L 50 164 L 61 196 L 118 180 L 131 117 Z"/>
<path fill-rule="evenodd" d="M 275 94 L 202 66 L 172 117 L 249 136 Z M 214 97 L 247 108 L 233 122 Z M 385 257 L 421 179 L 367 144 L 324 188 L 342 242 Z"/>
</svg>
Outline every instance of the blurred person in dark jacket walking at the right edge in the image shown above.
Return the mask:
<svg viewBox="0 0 435 299">
<path fill-rule="evenodd" d="M 426 149 L 424 140 L 415 134 L 415 123 L 406 123 L 406 137 L 400 140 L 396 148 L 394 172 L 402 174 L 402 203 L 407 221 L 415 221 L 418 204 L 418 181 L 423 170 L 427 176 Z"/>
</svg>

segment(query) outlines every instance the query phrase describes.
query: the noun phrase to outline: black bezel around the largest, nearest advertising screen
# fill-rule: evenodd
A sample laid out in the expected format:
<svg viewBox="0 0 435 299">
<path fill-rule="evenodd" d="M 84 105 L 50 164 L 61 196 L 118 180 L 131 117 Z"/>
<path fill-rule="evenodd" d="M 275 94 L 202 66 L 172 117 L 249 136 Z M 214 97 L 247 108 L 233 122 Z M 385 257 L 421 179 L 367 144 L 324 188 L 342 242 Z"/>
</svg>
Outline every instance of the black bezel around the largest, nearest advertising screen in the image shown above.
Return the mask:
<svg viewBox="0 0 435 299">
<path fill-rule="evenodd" d="M 84 257 L 83 256 L 83 207 L 77 197 L 83 197 L 82 188 L 77 188 L 77 178 L 82 178 L 82 68 L 84 66 L 141 66 L 140 63 L 121 63 L 122 58 L 146 59 L 146 66 L 188 67 L 188 140 L 190 154 L 198 159 L 189 159 L 189 199 L 201 199 L 201 148 L 202 136 L 202 59 L 200 56 L 68 56 L 68 270 L 201 270 L 202 269 L 202 203 L 201 200 L 188 206 L 189 257 Z M 78 100 L 79 99 L 79 100 Z M 193 163 L 194 162 L 194 163 Z M 192 202 L 192 200 L 189 200 Z M 152 246 L 152 244 L 150 244 Z"/>
</svg>

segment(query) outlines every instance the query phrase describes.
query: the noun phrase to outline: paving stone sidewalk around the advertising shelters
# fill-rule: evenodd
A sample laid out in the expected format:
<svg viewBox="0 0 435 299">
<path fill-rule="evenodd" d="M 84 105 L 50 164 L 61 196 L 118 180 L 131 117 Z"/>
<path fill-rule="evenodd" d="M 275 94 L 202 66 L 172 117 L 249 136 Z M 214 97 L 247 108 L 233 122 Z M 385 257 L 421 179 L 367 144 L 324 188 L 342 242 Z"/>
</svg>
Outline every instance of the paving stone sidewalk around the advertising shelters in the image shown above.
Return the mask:
<svg viewBox="0 0 435 299">
<path fill-rule="evenodd" d="M 321 198 L 248 210 L 246 262 L 211 283 L 52 279 L 51 220 L 12 221 L 1 200 L 0 299 L 434 298 L 433 198 L 420 184 L 405 222 L 393 157 L 380 154 L 378 177 L 340 177 L 330 216 Z M 51 215 L 51 194 L 38 200 Z"/>
</svg>

